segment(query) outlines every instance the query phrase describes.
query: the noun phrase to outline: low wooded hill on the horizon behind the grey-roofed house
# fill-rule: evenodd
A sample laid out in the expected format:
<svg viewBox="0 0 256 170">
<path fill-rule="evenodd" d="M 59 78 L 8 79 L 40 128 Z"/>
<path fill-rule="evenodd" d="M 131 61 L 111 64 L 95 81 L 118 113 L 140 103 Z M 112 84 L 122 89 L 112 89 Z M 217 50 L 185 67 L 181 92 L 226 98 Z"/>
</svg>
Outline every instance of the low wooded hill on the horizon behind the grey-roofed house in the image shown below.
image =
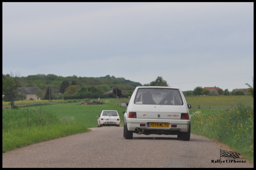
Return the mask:
<svg viewBox="0 0 256 170">
<path fill-rule="evenodd" d="M 118 88 L 121 90 L 133 90 L 137 86 L 142 86 L 139 82 L 126 80 L 122 77 L 106 75 L 105 77 L 77 77 L 76 75 L 62 77 L 54 74 L 36 74 L 20 77 L 22 87 L 38 87 L 45 93 L 48 86 L 51 87 L 52 93 L 59 93 L 61 83 L 68 81 L 70 85 L 77 85 L 79 89 L 91 86 L 101 89 L 105 93 L 111 89 Z"/>
</svg>

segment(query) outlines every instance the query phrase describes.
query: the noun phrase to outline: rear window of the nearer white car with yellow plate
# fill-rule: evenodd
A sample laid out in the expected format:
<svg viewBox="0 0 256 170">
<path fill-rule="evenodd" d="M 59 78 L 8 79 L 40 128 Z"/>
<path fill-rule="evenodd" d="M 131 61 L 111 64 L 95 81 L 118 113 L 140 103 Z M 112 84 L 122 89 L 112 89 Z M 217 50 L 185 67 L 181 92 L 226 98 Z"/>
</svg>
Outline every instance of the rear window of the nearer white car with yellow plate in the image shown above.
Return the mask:
<svg viewBox="0 0 256 170">
<path fill-rule="evenodd" d="M 178 89 L 141 88 L 134 104 L 183 105 L 183 100 Z"/>
</svg>

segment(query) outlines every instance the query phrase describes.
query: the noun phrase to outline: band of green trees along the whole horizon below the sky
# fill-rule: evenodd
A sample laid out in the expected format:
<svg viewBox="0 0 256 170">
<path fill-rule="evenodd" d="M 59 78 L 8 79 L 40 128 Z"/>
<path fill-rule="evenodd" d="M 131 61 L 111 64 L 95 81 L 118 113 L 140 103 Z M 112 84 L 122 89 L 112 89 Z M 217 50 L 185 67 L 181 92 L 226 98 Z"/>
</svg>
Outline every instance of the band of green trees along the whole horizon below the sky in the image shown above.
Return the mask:
<svg viewBox="0 0 256 170">
<path fill-rule="evenodd" d="M 126 97 L 132 95 L 133 90 L 137 86 L 142 86 L 139 82 L 125 80 L 124 78 L 116 78 L 107 75 L 105 77 L 77 77 L 75 75 L 69 77 L 57 76 L 54 74 L 37 74 L 27 77 L 20 77 L 20 73 L 3 74 L 3 101 L 10 102 L 12 108 L 17 100 L 26 99 L 26 95 L 20 94 L 22 87 L 38 87 L 40 90 L 36 92 L 36 96 L 44 100 L 54 99 L 84 99 L 84 98 L 114 98 Z M 246 83 L 247 84 L 247 83 Z M 253 97 L 253 88 L 249 86 L 249 92 Z M 169 84 L 162 76 L 158 76 L 156 80 L 146 83 L 143 86 L 166 86 Z M 128 91 L 122 93 L 122 90 Z M 106 92 L 111 91 L 106 94 Z M 183 91 L 184 96 L 200 96 L 200 95 L 244 95 L 243 91 L 231 93 L 228 89 L 203 90 L 202 87 L 196 87 L 194 90 Z"/>
</svg>

